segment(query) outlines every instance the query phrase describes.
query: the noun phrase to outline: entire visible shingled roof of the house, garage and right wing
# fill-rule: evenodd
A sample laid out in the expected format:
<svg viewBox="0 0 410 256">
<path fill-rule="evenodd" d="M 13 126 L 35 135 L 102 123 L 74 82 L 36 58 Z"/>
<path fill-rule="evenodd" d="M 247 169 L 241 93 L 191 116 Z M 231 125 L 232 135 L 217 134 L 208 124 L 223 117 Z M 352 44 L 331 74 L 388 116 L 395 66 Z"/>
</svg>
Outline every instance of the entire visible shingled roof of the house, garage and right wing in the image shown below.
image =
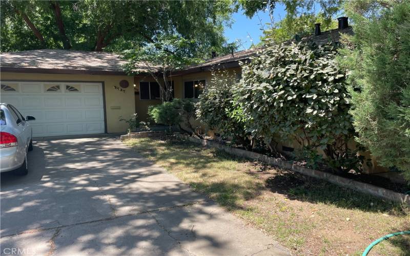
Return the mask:
<svg viewBox="0 0 410 256">
<path fill-rule="evenodd" d="M 302 40 L 313 40 L 319 45 L 329 41 L 339 41 L 341 34 L 353 34 L 352 27 L 343 30 L 324 31 L 320 35 L 310 35 Z M 286 42 L 291 42 L 288 40 Z M 285 43 L 286 43 L 285 42 Z M 173 76 L 210 71 L 218 68 L 239 67 L 239 61 L 245 61 L 257 54 L 262 47 L 252 48 L 208 59 L 198 65 L 174 71 Z M 59 74 L 94 74 L 94 75 L 127 75 L 122 66 L 127 63 L 119 55 L 106 52 L 88 52 L 72 50 L 32 50 L 23 52 L 7 52 L 0 54 L 0 68 L 3 72 L 36 72 Z M 144 65 L 137 66 L 135 71 L 146 71 Z"/>
</svg>

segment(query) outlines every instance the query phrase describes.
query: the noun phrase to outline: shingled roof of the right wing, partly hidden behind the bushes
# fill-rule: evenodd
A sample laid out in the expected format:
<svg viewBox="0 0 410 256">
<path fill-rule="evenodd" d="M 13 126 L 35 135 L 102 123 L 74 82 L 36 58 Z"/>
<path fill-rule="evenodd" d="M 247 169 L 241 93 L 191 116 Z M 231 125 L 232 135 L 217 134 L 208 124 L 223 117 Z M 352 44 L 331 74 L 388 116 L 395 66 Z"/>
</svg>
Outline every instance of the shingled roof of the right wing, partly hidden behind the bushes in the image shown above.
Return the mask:
<svg viewBox="0 0 410 256">
<path fill-rule="evenodd" d="M 342 30 L 333 29 L 333 30 L 324 31 L 320 35 L 309 35 L 309 36 L 303 37 L 302 40 L 304 41 L 313 40 L 318 45 L 324 45 L 330 41 L 335 41 L 335 42 L 339 41 L 341 34 L 353 34 L 352 27 L 347 27 Z M 284 43 L 292 42 L 292 41 L 294 40 L 288 40 L 288 41 L 285 41 Z M 220 65 L 219 68 L 239 67 L 239 61 L 244 61 L 244 60 L 249 59 L 249 57 L 256 55 L 258 50 L 261 50 L 261 49 L 262 47 L 255 47 L 252 49 L 235 52 L 233 54 L 211 58 L 211 59 L 205 60 L 204 62 L 198 65 L 192 65 L 184 69 L 178 70 L 176 72 L 173 72 L 173 75 L 176 76 L 176 75 L 183 75 L 183 74 L 188 74 L 188 73 L 193 73 L 193 72 L 210 71 L 216 65 Z"/>
</svg>

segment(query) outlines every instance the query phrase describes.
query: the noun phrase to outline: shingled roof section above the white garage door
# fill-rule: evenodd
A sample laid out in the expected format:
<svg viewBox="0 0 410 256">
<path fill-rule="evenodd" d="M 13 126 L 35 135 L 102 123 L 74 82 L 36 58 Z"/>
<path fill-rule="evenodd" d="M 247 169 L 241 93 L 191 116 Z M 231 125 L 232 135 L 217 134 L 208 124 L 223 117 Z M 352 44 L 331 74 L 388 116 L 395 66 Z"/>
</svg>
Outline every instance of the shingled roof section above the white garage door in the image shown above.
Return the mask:
<svg viewBox="0 0 410 256">
<path fill-rule="evenodd" d="M 32 50 L 0 54 L 2 71 L 125 75 L 119 55 L 71 50 Z"/>
</svg>

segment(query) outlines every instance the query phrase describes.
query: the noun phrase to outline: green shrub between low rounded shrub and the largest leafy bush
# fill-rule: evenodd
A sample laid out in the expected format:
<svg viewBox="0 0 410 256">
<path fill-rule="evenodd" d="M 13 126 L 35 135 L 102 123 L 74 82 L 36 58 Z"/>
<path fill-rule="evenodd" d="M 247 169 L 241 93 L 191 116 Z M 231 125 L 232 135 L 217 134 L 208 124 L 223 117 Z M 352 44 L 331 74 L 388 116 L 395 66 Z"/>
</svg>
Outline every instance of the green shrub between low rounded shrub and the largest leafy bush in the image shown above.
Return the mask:
<svg viewBox="0 0 410 256">
<path fill-rule="evenodd" d="M 231 137 L 236 144 L 250 145 L 250 133 L 245 131 L 244 123 L 235 118 L 237 105 L 233 100 L 236 74 L 228 71 L 212 72 L 211 83 L 199 96 L 196 114 L 209 128 Z"/>
</svg>

